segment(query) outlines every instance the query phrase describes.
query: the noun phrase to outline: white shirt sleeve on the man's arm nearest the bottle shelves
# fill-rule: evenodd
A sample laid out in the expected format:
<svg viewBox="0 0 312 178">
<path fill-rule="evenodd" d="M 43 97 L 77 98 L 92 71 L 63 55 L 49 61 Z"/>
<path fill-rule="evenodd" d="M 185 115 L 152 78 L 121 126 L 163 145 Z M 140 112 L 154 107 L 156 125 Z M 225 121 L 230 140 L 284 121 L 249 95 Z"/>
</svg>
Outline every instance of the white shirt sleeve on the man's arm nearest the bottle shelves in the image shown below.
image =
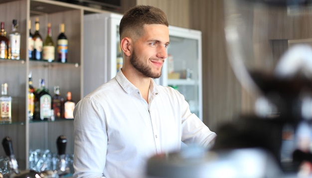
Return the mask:
<svg viewBox="0 0 312 178">
<path fill-rule="evenodd" d="M 74 178 L 105 178 L 107 133 L 100 104 L 84 98 L 74 110 Z"/>
</svg>

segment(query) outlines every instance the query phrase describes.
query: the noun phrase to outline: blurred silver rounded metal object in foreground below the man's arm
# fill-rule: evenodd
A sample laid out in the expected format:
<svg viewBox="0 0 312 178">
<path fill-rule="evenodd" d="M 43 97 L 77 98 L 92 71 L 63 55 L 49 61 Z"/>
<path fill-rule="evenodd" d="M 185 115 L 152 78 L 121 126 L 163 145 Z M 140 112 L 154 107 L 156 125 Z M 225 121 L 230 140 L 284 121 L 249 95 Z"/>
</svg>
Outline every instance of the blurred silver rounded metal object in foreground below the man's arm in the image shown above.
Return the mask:
<svg viewBox="0 0 312 178">
<path fill-rule="evenodd" d="M 190 147 L 157 155 L 148 162 L 147 178 L 280 178 L 271 155 L 261 149 L 206 152 Z"/>
</svg>

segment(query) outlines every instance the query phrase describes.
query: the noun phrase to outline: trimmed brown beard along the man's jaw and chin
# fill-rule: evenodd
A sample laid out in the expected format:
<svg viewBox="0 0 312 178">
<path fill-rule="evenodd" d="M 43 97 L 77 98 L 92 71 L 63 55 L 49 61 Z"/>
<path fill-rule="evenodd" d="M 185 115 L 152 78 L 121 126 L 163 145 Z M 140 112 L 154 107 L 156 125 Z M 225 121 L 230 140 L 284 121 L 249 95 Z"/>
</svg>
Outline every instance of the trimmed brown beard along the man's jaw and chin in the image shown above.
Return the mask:
<svg viewBox="0 0 312 178">
<path fill-rule="evenodd" d="M 137 71 L 139 71 L 142 75 L 146 77 L 159 78 L 161 76 L 161 70 L 160 72 L 153 73 L 150 66 L 139 60 L 138 56 L 135 53 L 135 50 L 133 51 L 130 58 L 130 63 L 134 66 L 135 69 L 137 69 Z"/>
</svg>

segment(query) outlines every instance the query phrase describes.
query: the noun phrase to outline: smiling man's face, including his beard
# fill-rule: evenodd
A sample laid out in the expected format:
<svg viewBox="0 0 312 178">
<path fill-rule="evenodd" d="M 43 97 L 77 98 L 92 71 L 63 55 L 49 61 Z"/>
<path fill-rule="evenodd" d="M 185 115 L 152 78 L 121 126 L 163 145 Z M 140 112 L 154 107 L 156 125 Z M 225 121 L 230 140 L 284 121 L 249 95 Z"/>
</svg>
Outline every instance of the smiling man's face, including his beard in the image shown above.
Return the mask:
<svg viewBox="0 0 312 178">
<path fill-rule="evenodd" d="M 134 43 L 130 62 L 142 75 L 159 78 L 162 64 L 167 58 L 169 30 L 161 24 L 146 24 L 144 29 L 144 35 Z"/>
</svg>

